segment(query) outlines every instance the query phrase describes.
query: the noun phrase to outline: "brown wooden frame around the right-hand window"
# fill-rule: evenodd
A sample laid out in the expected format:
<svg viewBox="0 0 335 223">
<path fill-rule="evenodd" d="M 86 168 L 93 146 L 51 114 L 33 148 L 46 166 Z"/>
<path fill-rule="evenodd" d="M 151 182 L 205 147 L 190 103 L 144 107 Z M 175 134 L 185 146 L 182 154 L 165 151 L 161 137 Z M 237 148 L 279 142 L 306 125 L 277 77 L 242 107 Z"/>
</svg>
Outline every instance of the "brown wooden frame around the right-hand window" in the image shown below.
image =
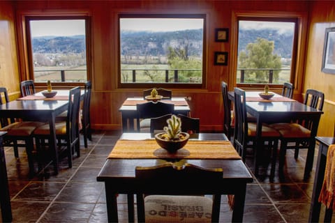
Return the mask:
<svg viewBox="0 0 335 223">
<path fill-rule="evenodd" d="M 237 58 L 238 58 L 238 34 L 239 34 L 239 20 L 258 20 L 269 22 L 295 22 L 295 36 L 292 45 L 292 61 L 290 82 L 295 86 L 295 91 L 301 91 L 301 80 L 304 72 L 304 53 L 306 47 L 306 20 L 305 13 L 289 13 L 289 12 L 233 12 L 232 24 L 236 27 L 234 34 L 236 36 L 236 45 L 232 46 L 232 60 L 231 60 L 231 73 L 233 77 L 230 78 L 229 83 L 232 86 L 237 86 L 242 89 L 263 89 L 266 84 L 238 84 L 237 83 Z M 271 84 L 271 89 L 282 89 L 283 84 Z"/>
</svg>

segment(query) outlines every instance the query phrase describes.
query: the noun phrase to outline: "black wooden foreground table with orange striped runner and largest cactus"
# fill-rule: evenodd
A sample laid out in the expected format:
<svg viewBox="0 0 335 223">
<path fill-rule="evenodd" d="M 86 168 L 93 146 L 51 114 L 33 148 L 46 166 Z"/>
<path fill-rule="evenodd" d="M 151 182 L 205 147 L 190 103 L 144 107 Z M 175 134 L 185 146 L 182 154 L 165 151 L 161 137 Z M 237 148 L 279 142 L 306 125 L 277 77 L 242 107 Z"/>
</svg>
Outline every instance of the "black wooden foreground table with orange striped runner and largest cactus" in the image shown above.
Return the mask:
<svg viewBox="0 0 335 223">
<path fill-rule="evenodd" d="M 140 141 L 142 140 L 154 140 L 152 139 L 152 135 L 150 133 L 123 133 L 120 139 L 128 139 L 131 141 L 135 140 L 135 143 L 129 142 L 132 146 L 134 146 L 134 144 L 140 144 Z M 229 146 L 229 150 L 232 149 L 235 151 L 232 147 L 232 144 L 230 144 L 230 141 L 228 141 L 227 137 L 223 133 L 191 134 L 191 139 L 189 139 L 188 144 L 190 144 L 190 141 L 211 141 L 213 144 L 216 144 L 215 141 L 218 141 L 217 144 L 219 145 L 216 145 L 216 149 L 221 149 L 222 143 L 224 142 L 227 146 Z M 123 143 L 126 144 L 126 142 Z M 144 143 L 147 144 L 148 141 L 145 141 Z M 186 144 L 185 148 L 190 146 L 188 144 Z M 128 149 L 128 146 L 126 146 L 126 148 Z M 191 148 L 188 148 L 191 151 Z M 113 149 L 115 150 L 115 147 Z M 225 150 L 225 148 L 222 149 L 223 151 Z M 143 149 L 140 148 L 140 151 L 143 151 Z M 126 158 L 107 158 L 103 168 L 97 176 L 98 181 L 105 183 L 108 222 L 118 222 L 117 194 L 128 194 L 128 220 L 129 222 L 134 220 L 133 194 L 136 194 L 137 191 L 141 190 L 141 188 L 137 187 L 137 182 L 135 179 L 135 167 L 151 167 L 156 166 L 158 163 L 179 162 L 181 160 L 176 158 L 170 160 L 162 157 L 143 158 L 137 157 L 136 154 L 136 150 L 134 149 L 133 154 L 131 154 L 132 158 L 129 158 L 128 156 Z M 222 185 L 220 187 L 222 188 L 222 194 L 234 194 L 232 222 L 243 221 L 246 184 L 253 181 L 253 178 L 246 168 L 244 162 L 241 161 L 238 154 L 237 156 L 237 159 L 224 159 L 215 157 L 194 159 L 184 157 L 182 159 L 183 162 L 195 164 L 200 167 L 221 167 L 223 169 L 223 179 L 221 182 L 218 182 L 218 184 Z"/>
</svg>

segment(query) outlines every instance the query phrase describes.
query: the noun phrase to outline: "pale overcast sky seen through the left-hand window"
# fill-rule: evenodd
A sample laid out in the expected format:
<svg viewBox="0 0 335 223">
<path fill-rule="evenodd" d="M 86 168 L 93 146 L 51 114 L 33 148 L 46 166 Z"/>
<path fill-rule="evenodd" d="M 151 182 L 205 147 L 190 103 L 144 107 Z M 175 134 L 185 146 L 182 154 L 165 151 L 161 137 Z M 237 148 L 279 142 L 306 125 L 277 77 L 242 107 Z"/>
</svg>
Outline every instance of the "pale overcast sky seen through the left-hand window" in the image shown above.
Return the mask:
<svg viewBox="0 0 335 223">
<path fill-rule="evenodd" d="M 84 20 L 31 20 L 31 36 L 85 35 Z"/>
</svg>

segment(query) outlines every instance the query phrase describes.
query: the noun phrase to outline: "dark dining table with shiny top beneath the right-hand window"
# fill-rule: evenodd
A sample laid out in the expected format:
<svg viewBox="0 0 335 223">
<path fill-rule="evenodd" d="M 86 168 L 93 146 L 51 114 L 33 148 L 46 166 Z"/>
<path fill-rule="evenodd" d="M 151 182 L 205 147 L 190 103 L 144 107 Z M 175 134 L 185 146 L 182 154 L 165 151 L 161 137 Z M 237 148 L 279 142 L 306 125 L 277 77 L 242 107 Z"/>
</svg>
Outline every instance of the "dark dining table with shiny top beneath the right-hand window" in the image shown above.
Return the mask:
<svg viewBox="0 0 335 223">
<path fill-rule="evenodd" d="M 304 179 L 307 179 L 313 167 L 313 157 L 315 151 L 315 137 L 318 132 L 318 124 L 323 114 L 319 109 L 315 109 L 297 100 L 286 98 L 283 95 L 274 93 L 274 97 L 269 100 L 260 98 L 261 91 L 246 91 L 246 112 L 256 118 L 256 147 L 262 137 L 262 123 L 290 123 L 295 119 L 308 120 L 313 123 L 311 128 L 311 144 L 308 146 Z M 273 93 L 273 92 L 272 92 Z M 228 91 L 228 98 L 234 101 L 234 91 Z M 261 153 L 257 153 L 256 155 Z M 258 160 L 258 159 L 255 159 Z M 258 172 L 258 165 L 255 164 L 255 173 Z"/>
</svg>

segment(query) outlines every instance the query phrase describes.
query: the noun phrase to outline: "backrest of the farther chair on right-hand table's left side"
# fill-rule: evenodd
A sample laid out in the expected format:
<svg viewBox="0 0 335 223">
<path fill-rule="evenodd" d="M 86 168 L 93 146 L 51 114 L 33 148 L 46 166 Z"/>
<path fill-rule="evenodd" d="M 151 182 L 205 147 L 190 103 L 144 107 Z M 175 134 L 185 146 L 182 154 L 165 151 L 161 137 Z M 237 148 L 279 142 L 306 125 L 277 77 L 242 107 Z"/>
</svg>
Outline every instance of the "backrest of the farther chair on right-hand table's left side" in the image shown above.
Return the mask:
<svg viewBox="0 0 335 223">
<path fill-rule="evenodd" d="M 232 116 L 231 116 L 231 107 L 230 101 L 228 99 L 228 85 L 225 82 L 221 82 L 221 91 L 222 91 L 222 98 L 223 98 L 223 132 L 227 135 L 228 139 L 230 139 L 230 134 L 232 133 Z"/>
</svg>

